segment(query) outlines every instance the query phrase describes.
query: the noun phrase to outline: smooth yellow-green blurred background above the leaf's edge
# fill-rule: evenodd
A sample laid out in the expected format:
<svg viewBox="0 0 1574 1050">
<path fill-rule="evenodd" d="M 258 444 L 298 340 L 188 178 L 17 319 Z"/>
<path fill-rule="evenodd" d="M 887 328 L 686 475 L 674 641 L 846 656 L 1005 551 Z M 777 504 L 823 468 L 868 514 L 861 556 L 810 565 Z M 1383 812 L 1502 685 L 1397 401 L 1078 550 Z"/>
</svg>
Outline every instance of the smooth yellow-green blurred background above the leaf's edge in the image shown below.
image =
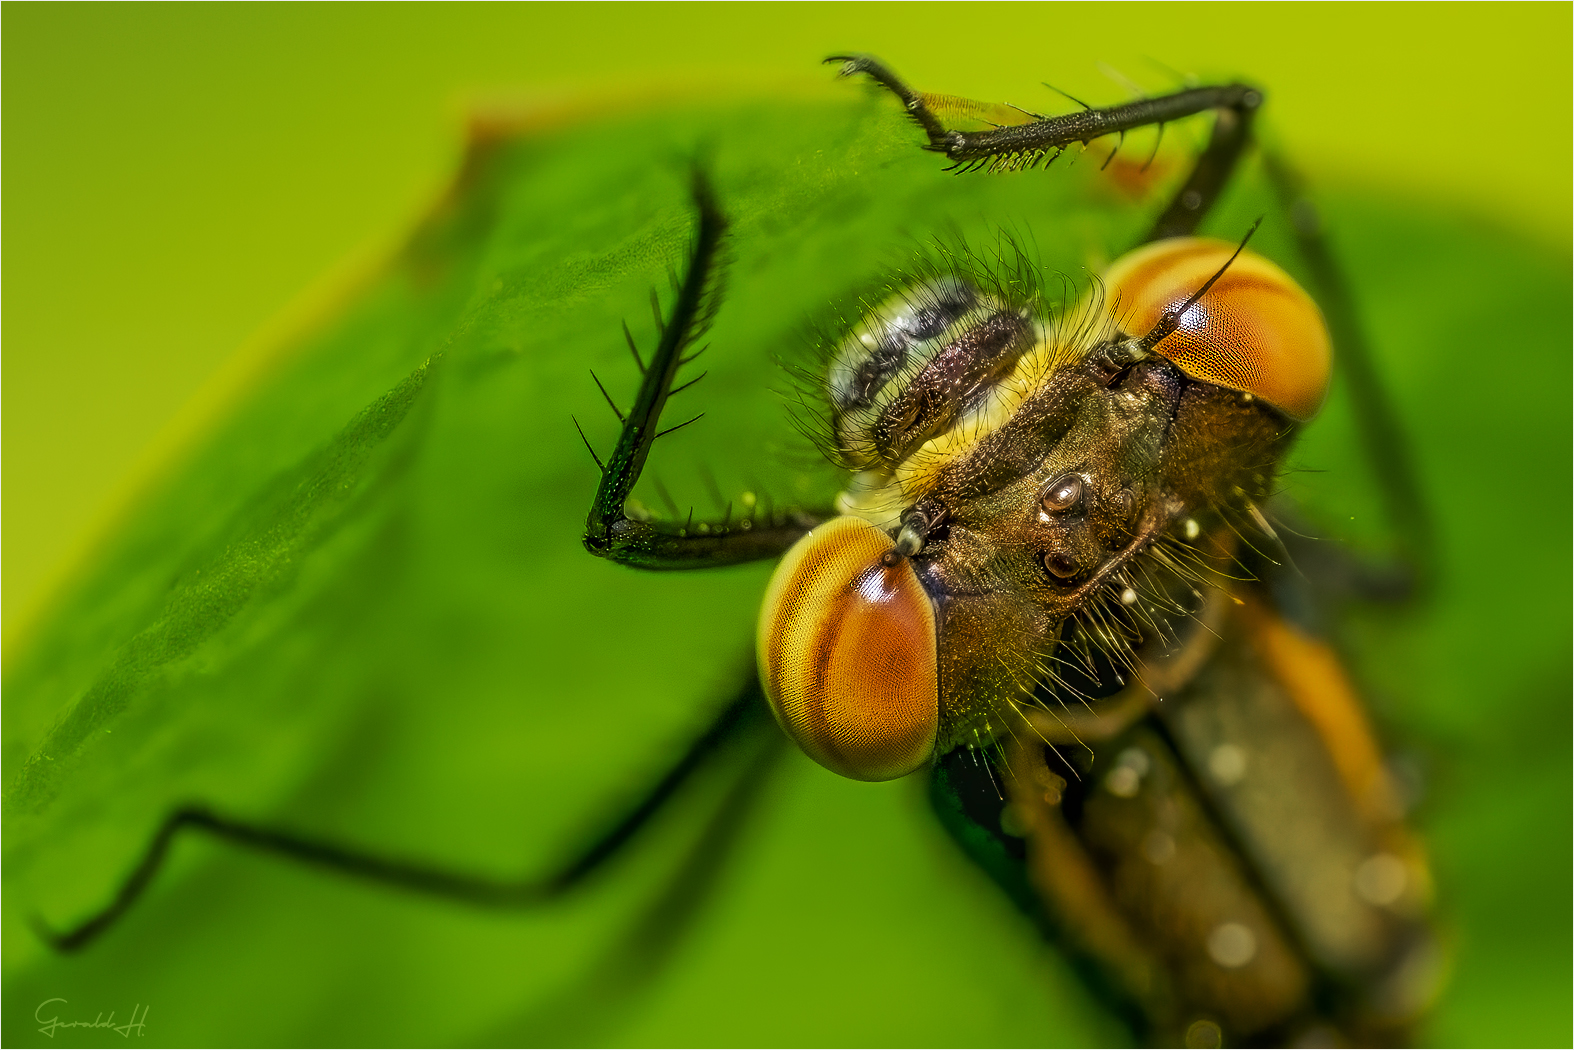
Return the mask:
<svg viewBox="0 0 1574 1050">
<path fill-rule="evenodd" d="M 1100 63 L 1146 85 L 1166 68 L 1247 74 L 1316 178 L 1569 239 L 1561 3 L 13 3 L 0 17 L 8 650 L 277 332 L 398 241 L 477 101 L 696 80 L 746 93 L 839 49 L 1029 107 L 1058 104 L 1040 80 L 1122 98 Z"/>
</svg>

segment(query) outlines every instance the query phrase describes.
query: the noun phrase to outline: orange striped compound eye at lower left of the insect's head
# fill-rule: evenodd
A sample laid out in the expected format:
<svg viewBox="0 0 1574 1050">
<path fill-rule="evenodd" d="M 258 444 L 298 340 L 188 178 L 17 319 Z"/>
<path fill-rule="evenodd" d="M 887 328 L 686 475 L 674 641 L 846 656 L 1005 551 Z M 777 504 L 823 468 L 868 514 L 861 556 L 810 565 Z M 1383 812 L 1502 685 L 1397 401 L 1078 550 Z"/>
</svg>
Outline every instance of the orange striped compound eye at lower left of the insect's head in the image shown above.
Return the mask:
<svg viewBox="0 0 1574 1050">
<path fill-rule="evenodd" d="M 820 765 L 856 781 L 911 773 L 935 749 L 935 609 L 891 537 L 834 518 L 798 540 L 760 608 L 760 682 L 776 721 Z"/>
</svg>

